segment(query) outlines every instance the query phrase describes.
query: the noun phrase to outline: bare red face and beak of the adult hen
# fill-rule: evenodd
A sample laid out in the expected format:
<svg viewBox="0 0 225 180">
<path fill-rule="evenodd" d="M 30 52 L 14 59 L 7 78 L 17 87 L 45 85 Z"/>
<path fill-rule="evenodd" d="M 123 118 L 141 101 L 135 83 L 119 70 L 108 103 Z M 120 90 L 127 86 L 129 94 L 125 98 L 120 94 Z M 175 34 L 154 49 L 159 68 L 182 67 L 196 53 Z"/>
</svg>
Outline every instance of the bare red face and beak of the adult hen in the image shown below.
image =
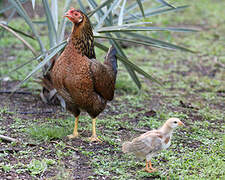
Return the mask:
<svg viewBox="0 0 225 180">
<path fill-rule="evenodd" d="M 66 12 L 64 17 L 67 17 L 74 24 L 78 25 L 83 22 L 85 15 L 80 10 L 70 8 L 70 10 Z"/>
</svg>

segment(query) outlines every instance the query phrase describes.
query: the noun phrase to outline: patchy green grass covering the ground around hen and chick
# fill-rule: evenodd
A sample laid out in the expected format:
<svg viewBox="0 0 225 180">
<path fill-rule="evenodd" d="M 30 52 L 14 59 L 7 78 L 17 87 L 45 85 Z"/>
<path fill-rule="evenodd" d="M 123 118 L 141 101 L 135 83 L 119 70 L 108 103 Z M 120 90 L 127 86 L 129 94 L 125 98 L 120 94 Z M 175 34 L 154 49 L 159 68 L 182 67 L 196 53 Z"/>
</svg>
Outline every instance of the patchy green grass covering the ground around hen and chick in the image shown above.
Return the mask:
<svg viewBox="0 0 225 180">
<path fill-rule="evenodd" d="M 55 178 L 69 179 L 72 177 L 71 171 L 77 170 L 70 163 L 82 161 L 74 157 L 74 152 L 77 152 L 82 158 L 87 158 L 87 164 L 81 164 L 91 168 L 89 179 L 224 179 L 225 84 L 222 82 L 225 76 L 221 65 L 225 65 L 225 25 L 221 12 L 225 2 L 185 0 L 179 3 L 189 4 L 191 7 L 178 14 L 152 17 L 149 20 L 160 26 L 191 25 L 200 31 L 187 34 L 149 34 L 178 45 L 186 45 L 198 53 L 171 52 L 156 48 L 149 51 L 143 46 L 126 49 L 134 63 L 160 79 L 164 86 L 159 87 L 140 77 L 143 89 L 138 91 L 123 65 L 119 63 L 116 96 L 97 120 L 97 134 L 104 140 L 103 145 L 90 145 L 81 136 L 83 143 L 73 147 L 78 149 L 75 151 L 69 147 L 73 141 L 64 138 L 72 133 L 72 116 L 23 119 L 5 106 L 0 110 L 0 123 L 7 122 L 8 116 L 13 122 L 10 126 L 0 126 L 0 134 L 11 132 L 13 137 L 21 136 L 25 141 L 44 143 L 47 148 L 24 145 L 25 149 L 13 154 L 19 160 L 26 159 L 23 163 L 11 162 L 10 153 L 1 152 L 0 159 L 7 160 L 0 164 L 0 172 L 11 173 L 15 170 L 18 174 L 28 173 L 37 178 L 45 171 L 57 169 Z M 18 27 L 22 27 L 22 22 L 18 21 Z M 13 45 L 18 49 L 12 48 Z M 37 44 L 32 45 L 37 48 Z M 20 50 L 20 46 L 21 43 L 10 34 L 0 39 L 0 47 L 10 49 L 5 57 L 7 61 L 0 60 L 0 75 L 7 74 L 19 63 L 31 58 L 29 50 Z M 104 52 L 97 50 L 98 59 L 103 59 L 104 55 Z M 12 80 L 21 80 L 35 64 L 27 65 L 19 72 L 9 74 L 9 77 Z M 216 72 L 214 76 L 211 75 L 213 71 Z M 40 89 L 32 80 L 25 86 L 29 89 Z M 184 108 L 180 101 L 194 108 Z M 156 116 L 146 116 L 150 110 L 154 110 Z M 182 119 L 186 127 L 177 129 L 171 147 L 152 159 L 153 166 L 158 171 L 148 174 L 142 171 L 145 162 L 123 154 L 121 144 L 140 134 L 135 128 L 158 128 L 169 117 Z M 84 132 L 85 136 L 91 134 L 91 119 L 87 114 L 82 114 L 80 118 L 79 132 Z M 57 143 L 52 145 L 52 141 Z M 3 144 L 1 140 L 0 143 Z M 51 154 L 53 157 L 44 159 L 44 155 L 38 152 Z M 70 161 L 66 161 L 70 158 Z"/>
</svg>

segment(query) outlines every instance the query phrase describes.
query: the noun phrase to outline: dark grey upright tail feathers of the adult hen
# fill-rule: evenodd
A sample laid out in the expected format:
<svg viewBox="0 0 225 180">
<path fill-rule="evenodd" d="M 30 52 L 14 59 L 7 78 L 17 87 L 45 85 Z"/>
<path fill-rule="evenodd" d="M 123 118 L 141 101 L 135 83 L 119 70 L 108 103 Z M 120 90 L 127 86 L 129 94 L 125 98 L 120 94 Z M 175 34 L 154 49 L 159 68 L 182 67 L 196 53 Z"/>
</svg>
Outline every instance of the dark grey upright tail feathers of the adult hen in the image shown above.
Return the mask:
<svg viewBox="0 0 225 180">
<path fill-rule="evenodd" d="M 105 57 L 105 64 L 110 64 L 113 68 L 113 71 L 115 75 L 117 74 L 117 57 L 116 57 L 117 51 L 114 46 L 111 46 L 108 50 L 108 53 Z"/>
</svg>

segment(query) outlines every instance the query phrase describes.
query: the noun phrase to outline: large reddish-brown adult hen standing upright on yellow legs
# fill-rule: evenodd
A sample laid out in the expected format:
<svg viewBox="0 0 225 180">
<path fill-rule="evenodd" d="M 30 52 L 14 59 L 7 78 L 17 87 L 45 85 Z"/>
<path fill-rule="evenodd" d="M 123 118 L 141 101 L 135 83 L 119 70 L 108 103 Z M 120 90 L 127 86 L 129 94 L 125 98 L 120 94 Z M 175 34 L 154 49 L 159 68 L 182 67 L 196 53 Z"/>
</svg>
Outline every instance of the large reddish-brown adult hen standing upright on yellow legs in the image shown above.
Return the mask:
<svg viewBox="0 0 225 180">
<path fill-rule="evenodd" d="M 72 23 L 68 44 L 50 71 L 50 79 L 57 93 L 66 102 L 66 109 L 75 116 L 73 134 L 78 136 L 78 118 L 81 110 L 92 118 L 91 141 L 100 141 L 96 135 L 96 117 L 113 99 L 117 59 L 116 49 L 111 47 L 104 64 L 97 61 L 94 37 L 88 17 L 80 10 L 71 8 L 66 14 Z"/>
</svg>

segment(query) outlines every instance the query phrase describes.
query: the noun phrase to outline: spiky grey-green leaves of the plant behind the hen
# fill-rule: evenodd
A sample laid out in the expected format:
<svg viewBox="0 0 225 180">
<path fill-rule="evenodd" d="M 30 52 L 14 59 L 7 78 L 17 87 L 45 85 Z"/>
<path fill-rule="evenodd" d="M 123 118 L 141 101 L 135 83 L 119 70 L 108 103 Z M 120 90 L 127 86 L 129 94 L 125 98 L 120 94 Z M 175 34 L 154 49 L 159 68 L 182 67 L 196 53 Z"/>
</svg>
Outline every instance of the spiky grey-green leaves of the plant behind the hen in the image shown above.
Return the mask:
<svg viewBox="0 0 225 180">
<path fill-rule="evenodd" d="M 14 3 L 11 1 L 12 5 L 16 7 L 19 14 L 26 20 L 26 22 L 30 25 L 33 34 L 35 37 L 39 40 L 37 33 L 35 33 L 34 26 L 31 25 L 31 21 L 29 18 L 27 18 L 26 13 L 21 8 L 19 4 L 19 0 L 16 0 Z M 137 20 L 143 20 L 144 17 L 150 17 L 154 15 L 159 15 L 163 13 L 169 13 L 169 12 L 176 12 L 180 11 L 187 6 L 180 6 L 180 7 L 174 7 L 173 5 L 169 4 L 168 2 L 164 0 L 155 0 L 158 3 L 160 3 L 159 6 L 154 8 L 144 8 L 147 7 L 144 5 L 147 0 L 133 0 L 132 2 L 129 1 L 129 4 L 126 3 L 128 1 L 126 0 L 105 0 L 103 3 L 97 3 L 95 0 L 86 0 L 88 3 L 91 11 L 88 13 L 85 8 L 85 4 L 83 1 L 78 0 L 78 4 L 80 6 L 80 9 L 89 15 L 89 17 L 92 17 L 94 15 L 95 22 L 94 25 L 94 33 L 96 38 L 105 38 L 108 39 L 111 44 L 113 44 L 118 51 L 118 59 L 124 64 L 125 68 L 127 69 L 128 73 L 130 74 L 133 81 L 136 83 L 136 85 L 140 88 L 141 83 L 139 81 L 138 76 L 136 75 L 136 72 L 139 74 L 142 74 L 146 78 L 149 78 L 150 80 L 153 80 L 154 82 L 159 83 L 152 75 L 144 72 L 141 68 L 136 66 L 135 64 L 131 63 L 129 59 L 126 57 L 126 54 L 124 53 L 123 49 L 121 48 L 119 42 L 120 41 L 127 41 L 131 43 L 136 44 L 142 44 L 142 45 L 149 45 L 153 47 L 160 47 L 160 48 L 166 48 L 166 49 L 172 49 L 172 50 L 183 50 L 183 51 L 189 51 L 193 52 L 187 48 L 180 47 L 171 43 L 167 43 L 161 40 L 153 39 L 151 37 L 144 36 L 142 34 L 139 34 L 137 32 L 139 31 L 175 31 L 175 32 L 194 32 L 194 30 L 186 29 L 186 28 L 173 28 L 173 27 L 151 27 L 146 26 L 145 22 L 137 23 Z M 53 0 L 52 3 L 57 3 L 57 1 Z M 57 6 L 58 4 L 53 4 L 51 7 L 48 4 L 47 0 L 42 0 L 42 3 L 45 8 L 46 13 L 46 24 L 48 25 L 49 32 L 49 40 L 51 42 L 50 47 L 55 47 L 60 45 L 60 42 L 63 40 L 64 30 L 66 26 L 66 22 L 63 19 L 59 27 L 58 26 L 58 17 L 57 17 Z M 71 3 L 71 0 L 66 0 L 65 10 L 68 9 L 69 4 Z M 54 9 L 54 10 L 53 10 Z M 132 13 L 134 12 L 135 13 Z M 115 16 L 113 12 L 116 12 L 119 14 L 119 16 Z M 92 21 L 93 22 L 93 21 Z M 146 22 L 147 23 L 147 22 Z M 145 26 L 140 26 L 145 24 Z M 101 33 L 103 35 L 99 36 L 98 34 Z M 126 38 L 125 38 L 126 37 Z M 39 43 L 40 44 L 40 43 Z M 66 44 L 66 42 L 65 42 Z M 64 45 L 65 45 L 64 44 Z M 102 44 L 95 43 L 96 47 L 106 50 L 107 48 L 103 46 Z M 40 44 L 41 46 L 41 44 Z M 60 46 L 61 47 L 61 46 Z M 61 49 L 62 50 L 62 49 Z M 57 54 L 58 49 L 55 48 L 54 53 Z M 46 54 L 45 54 L 46 55 Z M 41 67 L 44 66 L 45 63 L 49 62 L 48 56 L 45 57 L 44 61 L 42 61 L 42 64 L 38 65 L 32 73 L 30 73 L 27 78 L 29 78 L 33 73 L 38 71 Z M 50 65 L 49 65 L 50 66 Z M 27 79 L 26 78 L 26 79 Z"/>
</svg>

